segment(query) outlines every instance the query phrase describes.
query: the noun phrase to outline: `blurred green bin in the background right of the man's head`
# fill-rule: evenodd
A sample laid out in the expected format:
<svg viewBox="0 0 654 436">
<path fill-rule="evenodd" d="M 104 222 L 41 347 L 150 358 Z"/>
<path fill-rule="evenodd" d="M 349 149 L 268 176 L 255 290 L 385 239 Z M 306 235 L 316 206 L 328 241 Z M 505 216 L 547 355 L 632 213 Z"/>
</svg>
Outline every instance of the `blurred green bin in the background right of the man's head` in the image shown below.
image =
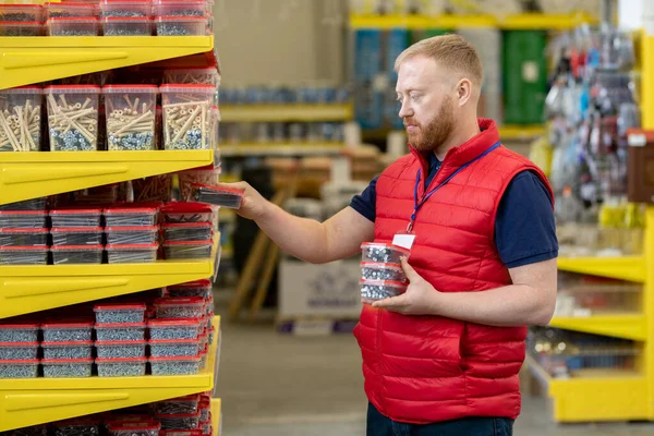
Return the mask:
<svg viewBox="0 0 654 436">
<path fill-rule="evenodd" d="M 507 31 L 502 40 L 505 124 L 541 124 L 547 92 L 543 31 Z"/>
</svg>

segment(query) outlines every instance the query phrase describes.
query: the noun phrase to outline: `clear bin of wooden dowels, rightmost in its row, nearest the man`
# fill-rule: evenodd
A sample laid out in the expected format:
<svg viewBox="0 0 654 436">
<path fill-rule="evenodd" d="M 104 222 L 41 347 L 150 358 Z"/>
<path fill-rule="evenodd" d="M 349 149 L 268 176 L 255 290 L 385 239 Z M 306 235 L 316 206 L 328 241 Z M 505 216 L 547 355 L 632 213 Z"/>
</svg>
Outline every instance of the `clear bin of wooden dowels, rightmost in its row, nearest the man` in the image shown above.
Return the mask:
<svg viewBox="0 0 654 436">
<path fill-rule="evenodd" d="M 161 85 L 159 90 L 164 108 L 164 148 L 210 149 L 210 110 L 216 88 L 172 84 Z"/>
</svg>

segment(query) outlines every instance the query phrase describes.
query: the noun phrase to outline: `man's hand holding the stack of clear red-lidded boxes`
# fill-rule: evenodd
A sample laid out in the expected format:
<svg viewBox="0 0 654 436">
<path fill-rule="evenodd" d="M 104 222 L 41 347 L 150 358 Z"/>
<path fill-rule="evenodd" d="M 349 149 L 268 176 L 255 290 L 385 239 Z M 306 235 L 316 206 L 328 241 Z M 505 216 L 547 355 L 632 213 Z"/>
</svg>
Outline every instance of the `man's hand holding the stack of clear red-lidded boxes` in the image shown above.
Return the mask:
<svg viewBox="0 0 654 436">
<path fill-rule="evenodd" d="M 435 315 L 438 307 L 438 292 L 429 282 L 413 269 L 407 258 L 402 258 L 402 269 L 409 279 L 407 292 L 372 303 L 373 307 L 387 308 L 404 315 Z"/>
</svg>

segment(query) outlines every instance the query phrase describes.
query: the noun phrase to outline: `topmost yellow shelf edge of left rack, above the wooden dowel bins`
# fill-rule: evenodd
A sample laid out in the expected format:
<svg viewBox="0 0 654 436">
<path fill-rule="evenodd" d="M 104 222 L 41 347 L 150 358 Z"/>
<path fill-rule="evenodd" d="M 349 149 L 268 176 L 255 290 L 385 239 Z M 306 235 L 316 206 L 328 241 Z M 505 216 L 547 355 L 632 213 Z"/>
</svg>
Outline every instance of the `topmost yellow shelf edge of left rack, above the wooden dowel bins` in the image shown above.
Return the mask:
<svg viewBox="0 0 654 436">
<path fill-rule="evenodd" d="M 213 36 L 0 37 L 0 89 L 213 49 Z"/>
</svg>

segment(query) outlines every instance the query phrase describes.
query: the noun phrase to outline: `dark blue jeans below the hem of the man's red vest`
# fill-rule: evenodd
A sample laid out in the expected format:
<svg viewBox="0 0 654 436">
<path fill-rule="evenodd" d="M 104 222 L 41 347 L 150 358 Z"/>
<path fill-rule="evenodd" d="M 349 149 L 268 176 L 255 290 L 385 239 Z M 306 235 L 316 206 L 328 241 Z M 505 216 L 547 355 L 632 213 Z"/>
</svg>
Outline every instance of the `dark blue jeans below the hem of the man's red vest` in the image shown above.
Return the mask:
<svg viewBox="0 0 654 436">
<path fill-rule="evenodd" d="M 367 436 L 512 436 L 508 417 L 464 417 L 434 424 L 407 424 L 384 416 L 368 403 Z"/>
</svg>

